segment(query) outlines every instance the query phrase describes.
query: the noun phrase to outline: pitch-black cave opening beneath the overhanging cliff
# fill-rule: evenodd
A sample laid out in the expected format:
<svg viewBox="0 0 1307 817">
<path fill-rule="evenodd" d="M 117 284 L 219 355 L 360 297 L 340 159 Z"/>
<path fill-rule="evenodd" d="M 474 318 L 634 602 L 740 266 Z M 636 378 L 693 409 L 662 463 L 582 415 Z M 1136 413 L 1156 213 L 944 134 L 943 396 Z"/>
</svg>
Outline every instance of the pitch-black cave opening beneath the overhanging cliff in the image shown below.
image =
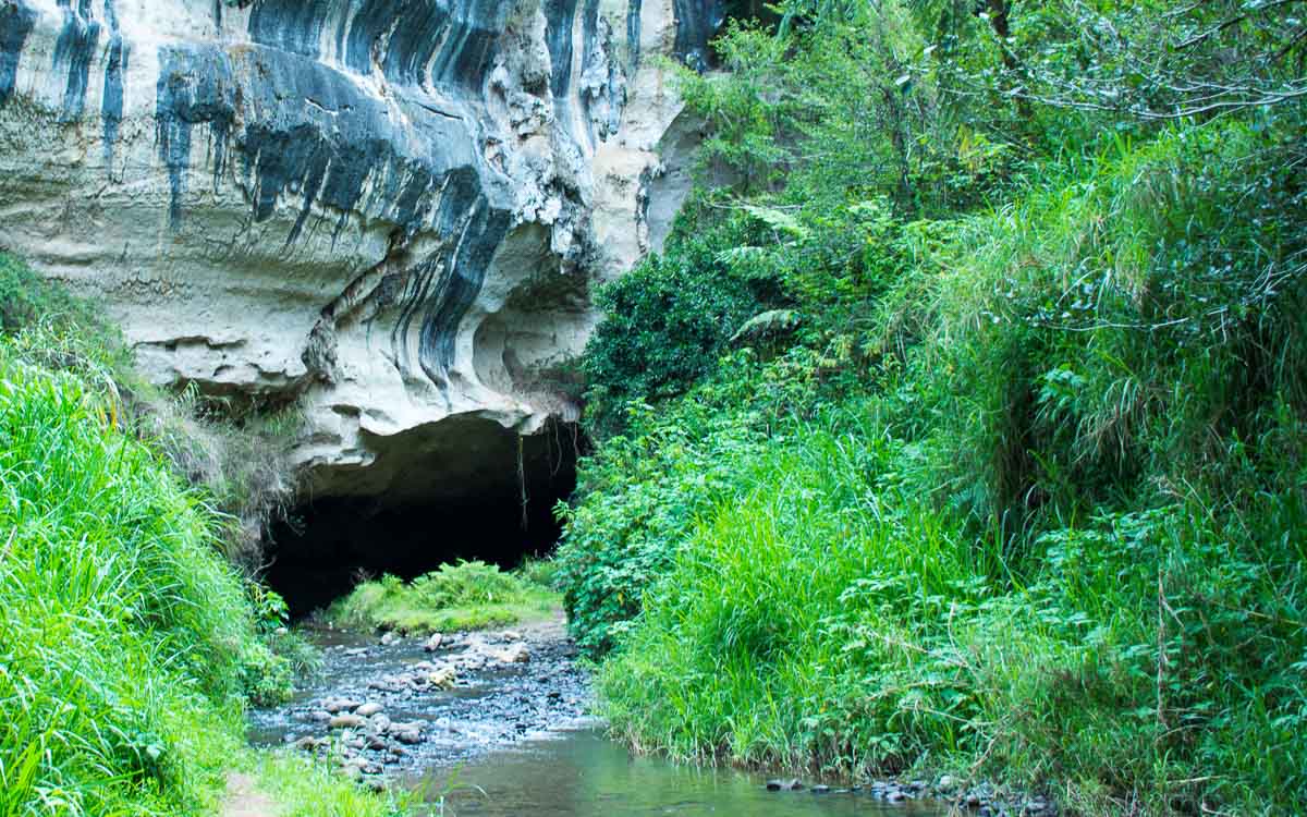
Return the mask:
<svg viewBox="0 0 1307 817">
<path fill-rule="evenodd" d="M 361 578 L 413 579 L 456 559 L 507 570 L 553 550 L 554 505 L 576 486 L 576 426 L 519 437 L 480 422 L 442 434 L 454 444 L 396 447 L 405 454 L 386 465 L 392 490 L 306 497 L 273 525 L 265 579 L 293 618 L 325 608 Z"/>
</svg>

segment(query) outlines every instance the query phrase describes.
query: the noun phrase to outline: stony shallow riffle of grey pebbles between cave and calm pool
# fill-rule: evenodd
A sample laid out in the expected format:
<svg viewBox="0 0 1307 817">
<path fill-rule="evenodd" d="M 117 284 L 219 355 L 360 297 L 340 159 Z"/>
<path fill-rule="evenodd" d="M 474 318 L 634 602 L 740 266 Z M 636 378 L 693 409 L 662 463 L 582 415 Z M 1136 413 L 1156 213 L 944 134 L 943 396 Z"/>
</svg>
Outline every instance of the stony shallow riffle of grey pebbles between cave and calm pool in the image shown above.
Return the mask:
<svg viewBox="0 0 1307 817">
<path fill-rule="evenodd" d="M 587 724 L 589 689 L 561 618 L 425 639 L 311 638 L 322 672 L 288 705 L 252 711 L 251 741 L 331 757 L 378 787 Z"/>
</svg>

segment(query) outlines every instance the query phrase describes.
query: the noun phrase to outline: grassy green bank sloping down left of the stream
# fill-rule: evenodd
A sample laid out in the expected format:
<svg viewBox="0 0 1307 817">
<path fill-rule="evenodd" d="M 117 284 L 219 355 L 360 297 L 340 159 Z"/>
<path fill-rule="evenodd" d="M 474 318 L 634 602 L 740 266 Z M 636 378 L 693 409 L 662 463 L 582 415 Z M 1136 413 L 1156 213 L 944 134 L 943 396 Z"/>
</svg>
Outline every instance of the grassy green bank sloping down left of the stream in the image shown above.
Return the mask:
<svg viewBox="0 0 1307 817">
<path fill-rule="evenodd" d="M 0 814 L 210 813 L 234 766 L 290 762 L 243 741 L 246 702 L 289 692 L 278 608 L 223 558 L 210 494 L 142 442 L 112 336 L 0 267 L 21 284 L 0 293 Z M 298 775 L 316 793 L 294 813 L 393 813 Z"/>
</svg>

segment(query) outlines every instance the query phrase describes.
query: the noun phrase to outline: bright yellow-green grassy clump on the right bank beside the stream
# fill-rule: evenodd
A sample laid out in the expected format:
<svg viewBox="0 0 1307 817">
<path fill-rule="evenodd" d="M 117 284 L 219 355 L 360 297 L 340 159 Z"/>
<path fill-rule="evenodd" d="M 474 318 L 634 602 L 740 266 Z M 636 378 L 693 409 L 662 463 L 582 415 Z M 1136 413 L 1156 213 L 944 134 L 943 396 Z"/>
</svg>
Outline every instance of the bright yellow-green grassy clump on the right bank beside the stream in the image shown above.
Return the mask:
<svg viewBox="0 0 1307 817">
<path fill-rule="evenodd" d="M 904 710 L 931 685 L 891 668 L 989 565 L 903 490 L 865 408 L 736 452 L 601 671 L 618 732 L 680 758 L 893 771 L 957 731 L 953 706 Z"/>
</svg>

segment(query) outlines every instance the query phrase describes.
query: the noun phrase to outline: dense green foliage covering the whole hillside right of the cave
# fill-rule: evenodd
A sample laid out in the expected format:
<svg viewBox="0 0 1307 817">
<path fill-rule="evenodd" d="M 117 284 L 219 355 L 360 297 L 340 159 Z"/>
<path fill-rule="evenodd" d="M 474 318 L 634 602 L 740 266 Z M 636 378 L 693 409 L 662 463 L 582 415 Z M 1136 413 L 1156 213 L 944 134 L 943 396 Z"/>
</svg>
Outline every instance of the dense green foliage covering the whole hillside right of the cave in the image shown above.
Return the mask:
<svg viewBox="0 0 1307 817">
<path fill-rule="evenodd" d="M 616 729 L 1307 808 L 1300 10 L 783 3 L 682 77 L 706 246 L 659 263 L 800 328 L 670 399 L 593 341 L 634 400 L 561 570 Z"/>
</svg>

